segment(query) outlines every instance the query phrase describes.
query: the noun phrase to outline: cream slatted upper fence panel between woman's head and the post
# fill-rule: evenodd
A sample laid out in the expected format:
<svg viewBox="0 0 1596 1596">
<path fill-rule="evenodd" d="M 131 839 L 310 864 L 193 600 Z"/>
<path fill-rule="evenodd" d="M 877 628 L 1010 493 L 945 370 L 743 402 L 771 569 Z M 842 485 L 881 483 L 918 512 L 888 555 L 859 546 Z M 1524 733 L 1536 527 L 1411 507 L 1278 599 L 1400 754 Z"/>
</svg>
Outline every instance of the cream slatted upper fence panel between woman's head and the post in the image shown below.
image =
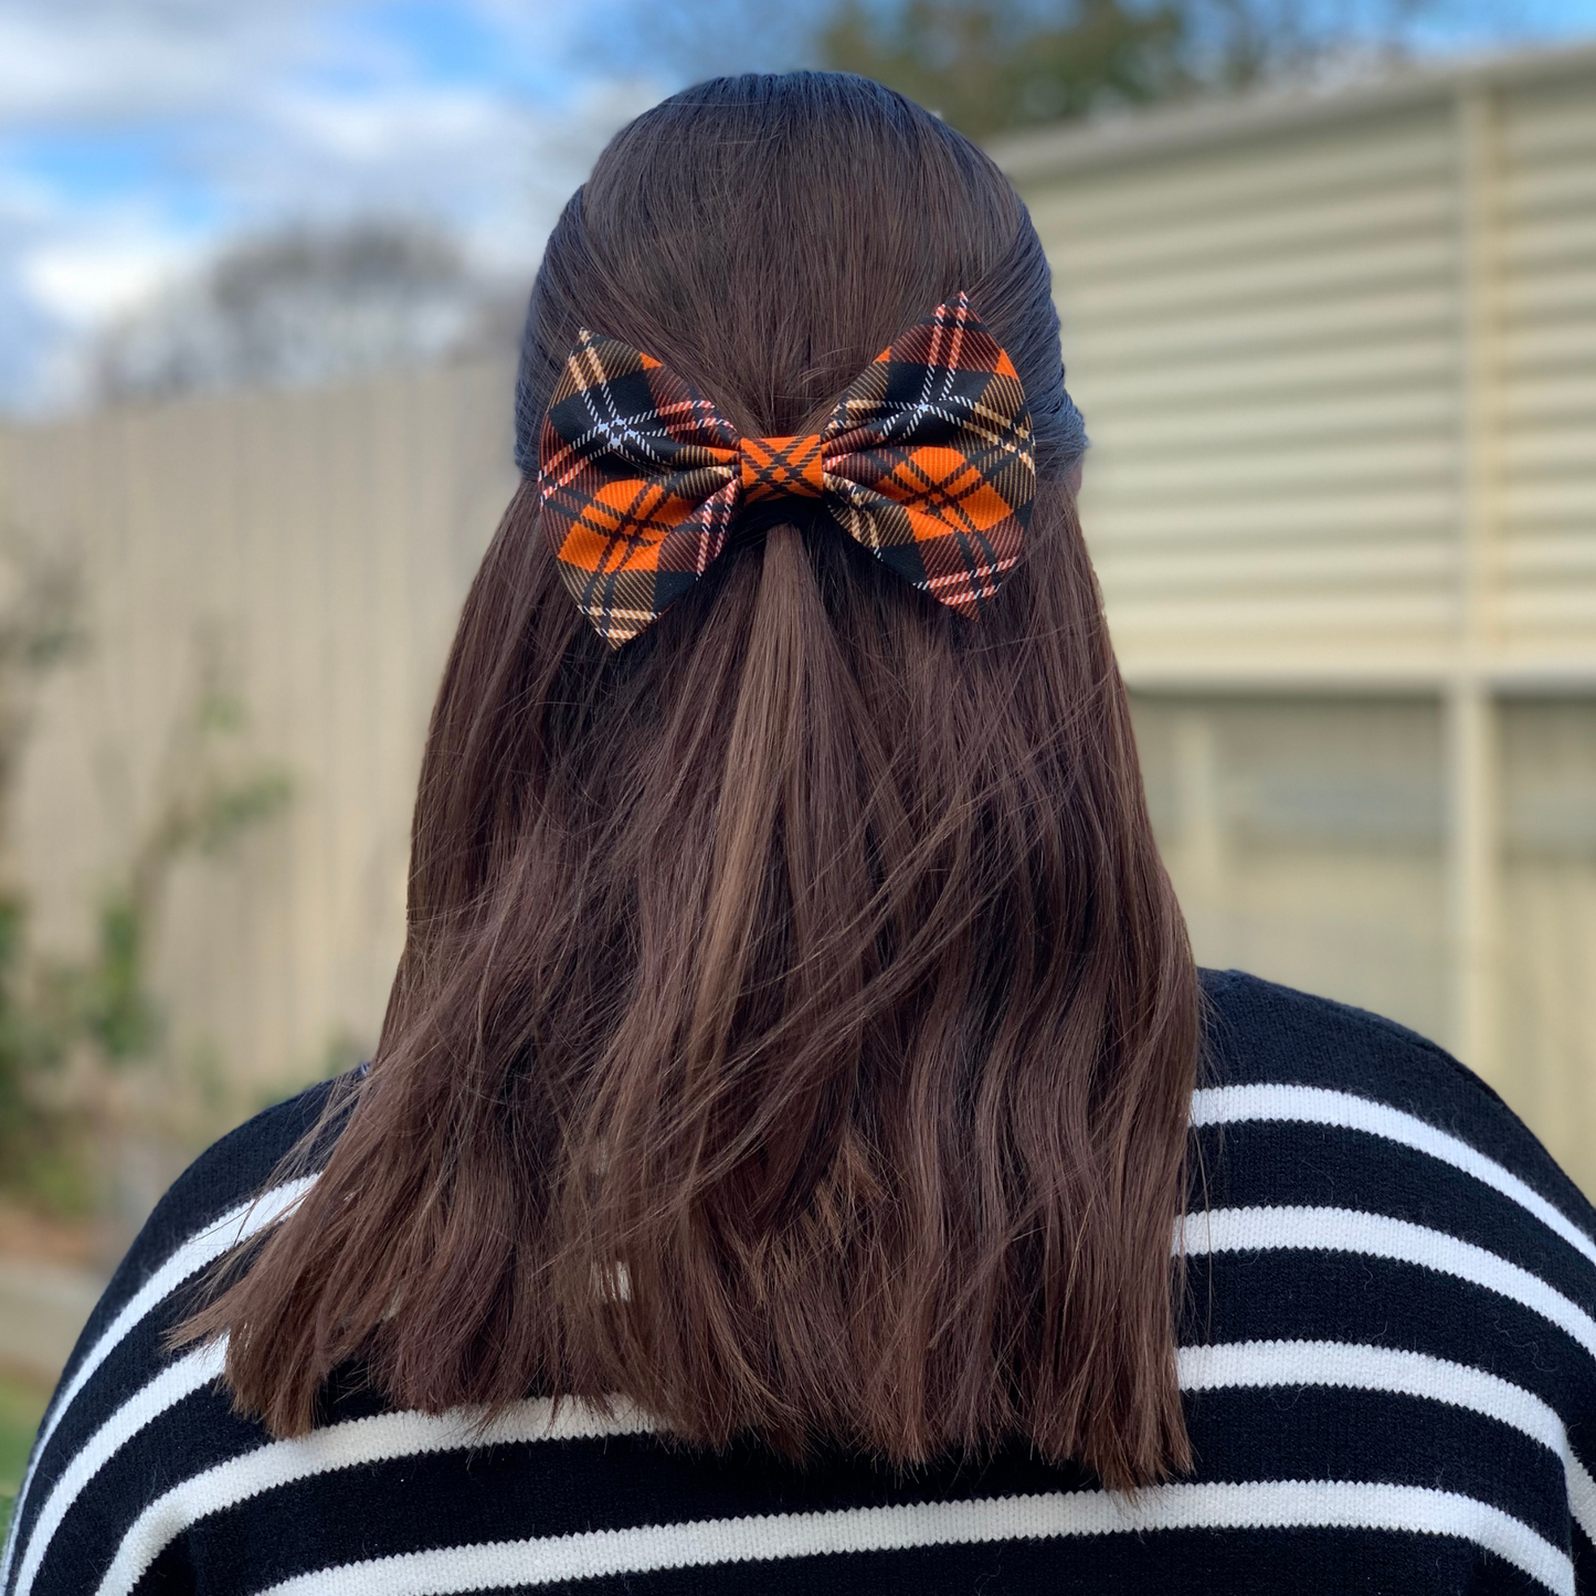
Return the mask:
<svg viewBox="0 0 1596 1596">
<path fill-rule="evenodd" d="M 1132 675 L 1444 645 L 1454 164 L 1433 107 L 1034 188 Z"/>
</svg>

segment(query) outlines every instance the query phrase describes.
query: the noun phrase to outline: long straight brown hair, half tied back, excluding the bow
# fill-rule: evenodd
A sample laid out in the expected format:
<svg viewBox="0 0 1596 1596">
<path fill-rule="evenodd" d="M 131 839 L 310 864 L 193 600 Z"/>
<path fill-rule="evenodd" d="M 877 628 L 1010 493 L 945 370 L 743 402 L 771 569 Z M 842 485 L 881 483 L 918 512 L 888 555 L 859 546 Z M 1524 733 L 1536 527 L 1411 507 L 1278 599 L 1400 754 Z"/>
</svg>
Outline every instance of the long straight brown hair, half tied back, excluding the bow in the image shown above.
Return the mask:
<svg viewBox="0 0 1596 1596">
<path fill-rule="evenodd" d="M 549 241 L 522 431 L 579 326 L 745 433 L 811 431 L 959 289 L 1039 440 L 1026 560 L 977 624 L 784 509 L 610 653 L 533 487 L 511 503 L 433 713 L 377 1057 L 187 1329 L 231 1333 L 275 1433 L 361 1360 L 397 1404 L 627 1396 L 709 1446 L 1187 1464 L 1195 972 L 1023 204 L 860 78 L 678 94 Z"/>
</svg>

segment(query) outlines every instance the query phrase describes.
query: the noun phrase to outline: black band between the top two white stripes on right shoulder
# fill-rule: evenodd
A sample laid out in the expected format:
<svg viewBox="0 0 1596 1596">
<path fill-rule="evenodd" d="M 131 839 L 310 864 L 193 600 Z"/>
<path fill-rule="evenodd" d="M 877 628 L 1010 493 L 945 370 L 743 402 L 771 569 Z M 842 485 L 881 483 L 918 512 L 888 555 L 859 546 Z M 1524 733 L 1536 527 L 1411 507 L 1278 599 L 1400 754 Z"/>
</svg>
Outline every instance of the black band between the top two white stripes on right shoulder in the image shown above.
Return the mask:
<svg viewBox="0 0 1596 1596">
<path fill-rule="evenodd" d="M 1197 1132 L 1208 1205 L 1384 1213 L 1483 1246 L 1596 1314 L 1596 1264 L 1511 1197 L 1414 1148 L 1360 1130 L 1238 1120 Z"/>
</svg>

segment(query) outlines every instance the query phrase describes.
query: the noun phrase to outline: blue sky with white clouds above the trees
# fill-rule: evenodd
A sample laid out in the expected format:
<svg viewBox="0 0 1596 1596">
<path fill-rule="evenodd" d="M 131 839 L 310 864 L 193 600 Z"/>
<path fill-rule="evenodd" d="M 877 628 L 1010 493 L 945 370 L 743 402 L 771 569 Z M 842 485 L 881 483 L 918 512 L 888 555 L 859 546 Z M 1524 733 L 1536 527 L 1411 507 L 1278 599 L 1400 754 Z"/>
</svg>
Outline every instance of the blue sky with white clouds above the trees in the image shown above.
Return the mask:
<svg viewBox="0 0 1596 1596">
<path fill-rule="evenodd" d="M 413 215 L 485 273 L 528 278 L 603 140 L 672 86 L 637 48 L 602 48 L 630 45 L 626 16 L 619 0 L 5 0 L 0 409 L 80 401 L 96 334 L 239 233 Z M 1499 37 L 1596 34 L 1596 0 L 1502 16 Z M 1424 43 L 1483 40 L 1443 21 Z"/>
</svg>

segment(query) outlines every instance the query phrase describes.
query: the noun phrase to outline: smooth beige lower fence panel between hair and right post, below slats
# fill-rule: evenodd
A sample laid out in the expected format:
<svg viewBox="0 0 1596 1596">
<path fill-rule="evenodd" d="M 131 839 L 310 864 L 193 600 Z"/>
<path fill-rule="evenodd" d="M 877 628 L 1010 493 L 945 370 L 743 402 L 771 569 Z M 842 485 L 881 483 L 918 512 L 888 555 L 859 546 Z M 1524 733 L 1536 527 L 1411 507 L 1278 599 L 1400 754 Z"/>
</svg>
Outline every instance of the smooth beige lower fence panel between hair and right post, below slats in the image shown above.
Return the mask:
<svg viewBox="0 0 1596 1596">
<path fill-rule="evenodd" d="M 1444 760 L 1424 699 L 1138 696 L 1200 958 L 1444 1031 Z"/>
</svg>

